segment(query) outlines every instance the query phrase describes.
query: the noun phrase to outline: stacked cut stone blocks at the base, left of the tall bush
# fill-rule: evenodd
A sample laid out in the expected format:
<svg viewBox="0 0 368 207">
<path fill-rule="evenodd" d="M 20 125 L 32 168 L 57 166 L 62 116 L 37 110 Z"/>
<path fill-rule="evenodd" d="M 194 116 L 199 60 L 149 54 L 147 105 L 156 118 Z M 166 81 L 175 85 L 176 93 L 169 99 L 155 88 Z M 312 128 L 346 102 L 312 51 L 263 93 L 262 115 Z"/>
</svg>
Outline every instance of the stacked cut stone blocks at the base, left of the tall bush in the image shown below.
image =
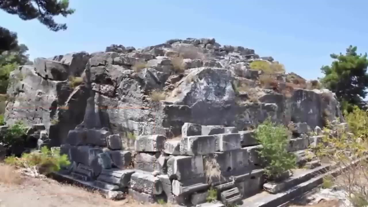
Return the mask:
<svg viewBox="0 0 368 207">
<path fill-rule="evenodd" d="M 134 199 L 198 205 L 210 186 L 224 204 L 262 189 L 263 170 L 252 131 L 185 123 L 181 138 L 138 136 L 124 151 L 120 136 L 106 129 L 70 130 L 61 152 L 70 155 L 68 172 L 100 189 L 127 192 Z"/>
</svg>

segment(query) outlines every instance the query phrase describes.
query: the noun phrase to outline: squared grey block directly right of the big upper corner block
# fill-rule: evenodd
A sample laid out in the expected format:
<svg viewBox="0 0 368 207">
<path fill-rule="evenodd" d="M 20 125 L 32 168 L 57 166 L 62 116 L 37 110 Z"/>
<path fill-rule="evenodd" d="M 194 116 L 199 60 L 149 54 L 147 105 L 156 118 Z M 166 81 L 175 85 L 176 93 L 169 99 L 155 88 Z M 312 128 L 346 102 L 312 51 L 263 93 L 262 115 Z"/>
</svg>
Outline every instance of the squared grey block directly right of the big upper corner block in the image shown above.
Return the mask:
<svg viewBox="0 0 368 207">
<path fill-rule="evenodd" d="M 240 149 L 240 134 L 217 134 L 215 135 L 215 149 L 216 151 L 224 152 L 230 150 Z"/>
</svg>

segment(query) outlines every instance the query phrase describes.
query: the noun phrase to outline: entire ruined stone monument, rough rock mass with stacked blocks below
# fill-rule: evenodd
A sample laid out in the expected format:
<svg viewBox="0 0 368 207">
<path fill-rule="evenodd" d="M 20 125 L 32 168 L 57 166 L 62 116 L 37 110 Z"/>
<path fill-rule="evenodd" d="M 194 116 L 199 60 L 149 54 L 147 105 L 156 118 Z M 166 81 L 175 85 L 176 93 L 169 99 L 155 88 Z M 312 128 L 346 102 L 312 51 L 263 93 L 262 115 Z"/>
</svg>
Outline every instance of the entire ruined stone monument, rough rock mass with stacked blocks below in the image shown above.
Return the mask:
<svg viewBox="0 0 368 207">
<path fill-rule="evenodd" d="M 272 74 L 274 84 L 264 86 L 262 71 L 250 68 L 255 60 L 274 62 L 208 38 L 38 58 L 11 73 L 5 118 L 32 126 L 32 147 L 69 156 L 59 176 L 109 198 L 197 205 L 213 186 L 224 204 L 237 203 L 262 188 L 278 191 L 263 185 L 258 123 L 291 123 L 289 151 L 314 169 L 321 163 L 308 158 L 308 146 L 325 120 L 342 120 L 335 94 L 290 87 L 304 80 L 293 73 Z"/>
</svg>

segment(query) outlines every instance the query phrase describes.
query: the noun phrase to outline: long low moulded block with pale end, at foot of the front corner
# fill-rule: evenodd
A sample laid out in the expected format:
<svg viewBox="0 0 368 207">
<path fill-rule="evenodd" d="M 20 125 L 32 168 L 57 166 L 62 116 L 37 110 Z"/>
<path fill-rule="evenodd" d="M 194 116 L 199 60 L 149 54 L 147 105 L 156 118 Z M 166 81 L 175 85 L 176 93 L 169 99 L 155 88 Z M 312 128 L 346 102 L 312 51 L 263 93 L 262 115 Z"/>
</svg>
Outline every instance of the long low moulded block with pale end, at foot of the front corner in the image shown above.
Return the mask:
<svg viewBox="0 0 368 207">
<path fill-rule="evenodd" d="M 205 177 L 190 180 L 173 180 L 173 194 L 180 196 L 182 194 L 190 194 L 201 190 L 207 190 L 209 184 L 206 183 Z"/>
</svg>

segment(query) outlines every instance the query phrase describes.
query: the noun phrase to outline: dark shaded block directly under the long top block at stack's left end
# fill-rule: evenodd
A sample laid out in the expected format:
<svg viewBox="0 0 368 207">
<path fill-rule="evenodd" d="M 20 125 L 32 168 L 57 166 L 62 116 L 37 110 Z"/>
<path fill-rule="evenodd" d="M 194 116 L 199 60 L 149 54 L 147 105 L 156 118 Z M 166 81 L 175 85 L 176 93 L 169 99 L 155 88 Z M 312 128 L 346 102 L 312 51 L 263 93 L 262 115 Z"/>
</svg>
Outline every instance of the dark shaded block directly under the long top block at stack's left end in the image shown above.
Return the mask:
<svg viewBox="0 0 368 207">
<path fill-rule="evenodd" d="M 92 160 L 100 153 L 103 153 L 101 148 L 90 146 L 78 146 L 70 148 L 70 158 L 72 161 L 91 165 Z"/>
</svg>

